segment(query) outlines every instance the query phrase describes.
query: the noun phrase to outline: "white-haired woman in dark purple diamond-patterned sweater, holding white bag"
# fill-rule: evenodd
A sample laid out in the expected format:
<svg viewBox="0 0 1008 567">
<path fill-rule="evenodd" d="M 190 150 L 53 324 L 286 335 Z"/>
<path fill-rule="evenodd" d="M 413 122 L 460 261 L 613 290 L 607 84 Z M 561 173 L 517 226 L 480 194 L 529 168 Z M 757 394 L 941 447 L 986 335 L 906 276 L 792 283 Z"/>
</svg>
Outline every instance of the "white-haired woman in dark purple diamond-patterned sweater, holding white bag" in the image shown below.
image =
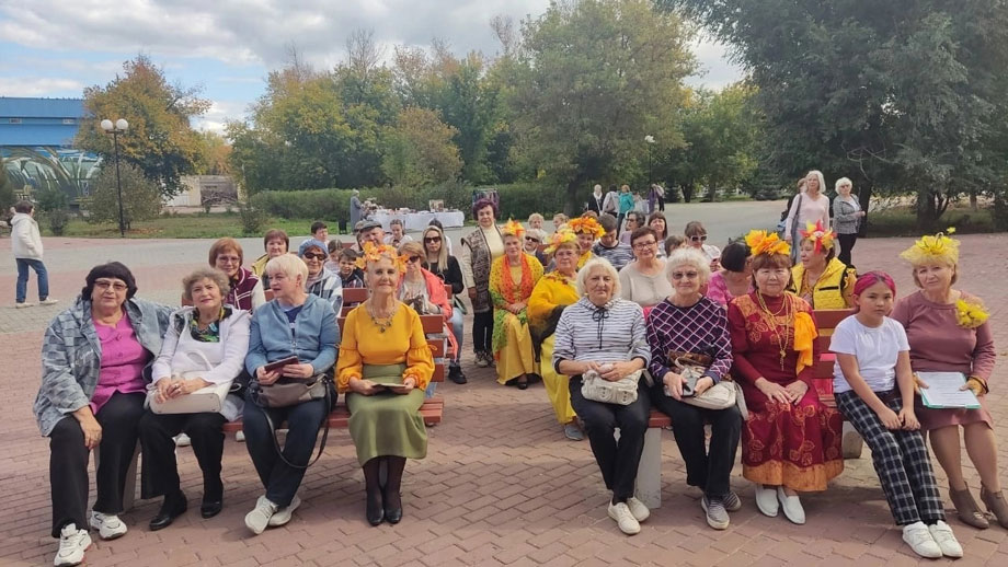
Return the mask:
<svg viewBox="0 0 1008 567">
<path fill-rule="evenodd" d="M 728 528 L 729 511 L 742 507 L 732 491 L 732 466 L 738 449 L 742 416 L 736 406 L 705 409 L 683 400 L 678 359 L 705 368 L 694 389 L 697 395 L 728 377 L 732 367 L 732 339 L 721 304 L 700 294 L 710 276 L 710 262 L 695 250 L 677 250 L 665 264 L 675 292 L 655 305 L 648 317 L 651 375 L 655 378 L 651 403 L 672 418 L 673 433 L 686 462 L 686 484 L 703 490 L 700 506 L 707 523 Z M 705 424 L 711 426 L 707 448 Z"/>
</svg>

